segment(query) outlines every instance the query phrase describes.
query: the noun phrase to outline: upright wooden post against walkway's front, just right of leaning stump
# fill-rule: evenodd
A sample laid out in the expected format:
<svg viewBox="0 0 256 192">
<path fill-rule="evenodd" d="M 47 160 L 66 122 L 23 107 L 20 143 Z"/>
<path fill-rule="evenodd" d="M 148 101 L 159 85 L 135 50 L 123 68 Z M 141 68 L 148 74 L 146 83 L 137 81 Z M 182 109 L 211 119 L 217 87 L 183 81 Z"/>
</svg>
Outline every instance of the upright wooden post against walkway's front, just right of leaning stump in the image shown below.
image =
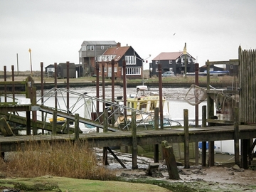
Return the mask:
<svg viewBox="0 0 256 192">
<path fill-rule="evenodd" d="M 188 110 L 183 110 L 184 114 L 184 168 L 189 169 L 189 135 L 188 135 Z"/>
</svg>

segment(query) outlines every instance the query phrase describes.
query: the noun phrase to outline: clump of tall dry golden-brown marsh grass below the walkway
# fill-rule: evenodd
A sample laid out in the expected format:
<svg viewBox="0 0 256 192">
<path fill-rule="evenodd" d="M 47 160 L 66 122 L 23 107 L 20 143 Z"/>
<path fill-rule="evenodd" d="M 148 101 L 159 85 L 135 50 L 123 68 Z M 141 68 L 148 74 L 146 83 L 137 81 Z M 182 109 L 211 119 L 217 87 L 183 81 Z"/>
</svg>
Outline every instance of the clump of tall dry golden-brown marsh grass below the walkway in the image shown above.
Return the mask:
<svg viewBox="0 0 256 192">
<path fill-rule="evenodd" d="M 27 142 L 0 162 L 1 170 L 18 176 L 63 176 L 97 180 L 114 180 L 113 171 L 100 166 L 87 144 L 73 142 Z"/>
</svg>

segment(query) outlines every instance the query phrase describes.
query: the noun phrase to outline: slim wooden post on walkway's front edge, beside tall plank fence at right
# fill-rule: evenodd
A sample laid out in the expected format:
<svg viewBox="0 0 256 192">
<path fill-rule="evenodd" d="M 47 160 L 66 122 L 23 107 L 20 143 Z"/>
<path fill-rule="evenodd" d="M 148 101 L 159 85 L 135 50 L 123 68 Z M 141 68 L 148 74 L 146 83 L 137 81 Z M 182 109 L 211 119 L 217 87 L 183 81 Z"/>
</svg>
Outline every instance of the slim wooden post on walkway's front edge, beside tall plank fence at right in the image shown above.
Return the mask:
<svg viewBox="0 0 256 192">
<path fill-rule="evenodd" d="M 234 107 L 234 129 L 235 129 L 235 138 L 234 138 L 234 144 L 235 144 L 235 164 L 240 166 L 240 154 L 239 154 L 239 125 L 238 125 L 238 107 Z"/>
</svg>

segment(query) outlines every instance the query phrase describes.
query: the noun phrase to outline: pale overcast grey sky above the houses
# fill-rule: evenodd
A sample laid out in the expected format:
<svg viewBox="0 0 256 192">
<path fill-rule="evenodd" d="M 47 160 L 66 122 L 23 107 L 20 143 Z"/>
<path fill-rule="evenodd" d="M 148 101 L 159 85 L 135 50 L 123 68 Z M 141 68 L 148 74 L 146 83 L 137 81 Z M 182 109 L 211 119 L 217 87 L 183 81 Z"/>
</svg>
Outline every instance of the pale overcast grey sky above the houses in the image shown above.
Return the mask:
<svg viewBox="0 0 256 192">
<path fill-rule="evenodd" d="M 256 48 L 255 0 L 0 0 L 0 70 L 78 63 L 83 41 L 116 41 L 142 58 L 187 51 L 206 60 Z M 174 35 L 175 33 L 175 35 Z M 149 68 L 145 63 L 144 68 Z"/>
</svg>

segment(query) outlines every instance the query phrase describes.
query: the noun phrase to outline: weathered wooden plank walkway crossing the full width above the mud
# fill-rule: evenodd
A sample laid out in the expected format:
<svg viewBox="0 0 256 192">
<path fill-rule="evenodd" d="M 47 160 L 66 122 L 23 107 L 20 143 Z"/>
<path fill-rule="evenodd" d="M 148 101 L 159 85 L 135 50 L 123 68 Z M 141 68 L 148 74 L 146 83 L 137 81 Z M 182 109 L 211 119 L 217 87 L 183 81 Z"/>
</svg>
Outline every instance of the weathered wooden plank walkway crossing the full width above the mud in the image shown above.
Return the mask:
<svg viewBox="0 0 256 192">
<path fill-rule="evenodd" d="M 101 132 L 79 134 L 81 140 L 87 141 L 90 146 L 132 146 L 132 132 Z M 161 144 L 167 142 L 185 142 L 183 128 L 178 129 L 158 129 L 158 130 L 140 130 L 137 132 L 137 144 Z M 240 125 L 238 139 L 256 138 L 256 125 Z M 16 151 L 17 144 L 24 142 L 49 141 L 63 142 L 75 139 L 74 134 L 57 134 L 57 135 L 22 135 L 13 137 L 0 137 L 1 152 Z M 234 126 L 219 127 L 200 127 L 189 128 L 189 142 L 208 142 L 220 140 L 234 140 Z"/>
</svg>

